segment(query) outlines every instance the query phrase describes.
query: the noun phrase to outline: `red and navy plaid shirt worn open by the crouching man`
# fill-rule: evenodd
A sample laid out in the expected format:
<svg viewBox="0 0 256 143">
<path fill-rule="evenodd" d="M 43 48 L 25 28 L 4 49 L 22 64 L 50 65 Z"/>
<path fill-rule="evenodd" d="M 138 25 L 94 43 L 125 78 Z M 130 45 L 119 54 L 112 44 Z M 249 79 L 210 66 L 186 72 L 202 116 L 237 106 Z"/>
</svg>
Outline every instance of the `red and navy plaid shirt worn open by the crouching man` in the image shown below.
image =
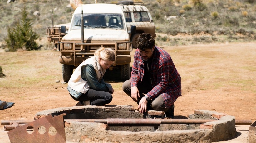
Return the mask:
<svg viewBox="0 0 256 143">
<path fill-rule="evenodd" d="M 150 99 L 161 95 L 165 101 L 165 108 L 170 106 L 181 96 L 181 77 L 175 68 L 171 56 L 163 49 L 156 47 L 151 64 L 151 84 L 153 89 L 146 95 Z M 144 76 L 144 64 L 139 49 L 134 54 L 131 71 L 131 87 L 141 83 Z"/>
</svg>

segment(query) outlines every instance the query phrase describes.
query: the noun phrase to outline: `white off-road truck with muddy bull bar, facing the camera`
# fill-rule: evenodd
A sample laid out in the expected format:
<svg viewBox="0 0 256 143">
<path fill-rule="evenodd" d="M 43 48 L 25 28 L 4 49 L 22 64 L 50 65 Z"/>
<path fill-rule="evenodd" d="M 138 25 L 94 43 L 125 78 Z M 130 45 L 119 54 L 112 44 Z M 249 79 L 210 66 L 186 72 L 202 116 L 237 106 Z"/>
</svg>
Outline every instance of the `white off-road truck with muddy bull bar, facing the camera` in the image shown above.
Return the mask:
<svg viewBox="0 0 256 143">
<path fill-rule="evenodd" d="M 116 51 L 113 66 L 120 67 L 122 80 L 130 79 L 130 35 L 136 32 L 136 26 L 130 26 L 129 29 L 119 5 L 95 3 L 77 7 L 67 34 L 58 42 L 63 80 L 68 82 L 73 69 L 94 56 L 100 47 Z"/>
</svg>

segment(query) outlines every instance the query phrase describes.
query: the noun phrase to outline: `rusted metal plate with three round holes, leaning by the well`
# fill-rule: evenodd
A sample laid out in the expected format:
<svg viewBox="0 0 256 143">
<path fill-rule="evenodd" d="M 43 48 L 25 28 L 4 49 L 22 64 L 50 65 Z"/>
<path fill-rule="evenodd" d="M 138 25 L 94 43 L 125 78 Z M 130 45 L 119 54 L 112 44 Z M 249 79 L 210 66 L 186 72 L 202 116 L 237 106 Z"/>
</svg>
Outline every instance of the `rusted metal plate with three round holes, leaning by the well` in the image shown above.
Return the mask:
<svg viewBox="0 0 256 143">
<path fill-rule="evenodd" d="M 66 143 L 63 115 L 48 115 L 7 132 L 10 142 Z"/>
</svg>

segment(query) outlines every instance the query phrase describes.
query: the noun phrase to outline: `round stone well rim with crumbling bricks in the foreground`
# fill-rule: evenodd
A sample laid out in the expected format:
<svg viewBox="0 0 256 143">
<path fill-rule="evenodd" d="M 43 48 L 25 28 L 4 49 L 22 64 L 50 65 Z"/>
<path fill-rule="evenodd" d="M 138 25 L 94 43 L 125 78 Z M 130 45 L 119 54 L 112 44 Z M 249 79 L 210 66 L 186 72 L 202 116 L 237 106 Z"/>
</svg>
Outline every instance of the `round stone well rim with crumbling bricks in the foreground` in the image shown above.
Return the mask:
<svg viewBox="0 0 256 143">
<path fill-rule="evenodd" d="M 108 119 L 108 118 L 163 118 L 164 112 L 151 111 L 140 114 L 133 106 L 74 106 L 38 112 L 35 119 L 51 114 L 65 113 L 64 119 Z M 217 142 L 234 138 L 235 117 L 208 110 L 195 110 L 188 119 L 215 119 L 200 125 L 161 124 L 159 127 L 108 126 L 104 123 L 65 123 L 67 142 L 99 143 L 187 143 Z"/>
</svg>

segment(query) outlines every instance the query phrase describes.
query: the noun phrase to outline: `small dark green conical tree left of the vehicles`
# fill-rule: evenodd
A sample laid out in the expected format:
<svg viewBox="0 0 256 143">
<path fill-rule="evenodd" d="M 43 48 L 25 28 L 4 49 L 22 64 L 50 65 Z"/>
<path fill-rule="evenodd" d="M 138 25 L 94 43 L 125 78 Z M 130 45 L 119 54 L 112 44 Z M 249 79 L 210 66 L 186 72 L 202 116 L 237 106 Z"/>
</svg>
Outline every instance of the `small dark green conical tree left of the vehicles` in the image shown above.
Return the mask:
<svg viewBox="0 0 256 143">
<path fill-rule="evenodd" d="M 21 15 L 20 22 L 17 22 L 14 28 L 7 29 L 6 46 L 9 51 L 17 51 L 17 49 L 37 50 L 39 47 L 35 40 L 39 38 L 39 35 L 32 30 L 32 19 L 28 18 L 25 6 Z"/>
</svg>

